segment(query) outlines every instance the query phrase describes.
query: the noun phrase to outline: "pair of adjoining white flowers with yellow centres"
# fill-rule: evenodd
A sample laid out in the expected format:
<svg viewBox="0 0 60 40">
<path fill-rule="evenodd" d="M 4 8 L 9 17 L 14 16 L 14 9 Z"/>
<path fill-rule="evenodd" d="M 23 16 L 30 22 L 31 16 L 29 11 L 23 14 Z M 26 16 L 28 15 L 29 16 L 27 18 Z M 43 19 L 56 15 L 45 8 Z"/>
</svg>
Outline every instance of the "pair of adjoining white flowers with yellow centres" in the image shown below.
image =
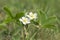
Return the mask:
<svg viewBox="0 0 60 40">
<path fill-rule="evenodd" d="M 19 19 L 24 25 L 29 24 L 31 20 L 37 18 L 37 13 L 29 12 L 25 16 Z"/>
</svg>

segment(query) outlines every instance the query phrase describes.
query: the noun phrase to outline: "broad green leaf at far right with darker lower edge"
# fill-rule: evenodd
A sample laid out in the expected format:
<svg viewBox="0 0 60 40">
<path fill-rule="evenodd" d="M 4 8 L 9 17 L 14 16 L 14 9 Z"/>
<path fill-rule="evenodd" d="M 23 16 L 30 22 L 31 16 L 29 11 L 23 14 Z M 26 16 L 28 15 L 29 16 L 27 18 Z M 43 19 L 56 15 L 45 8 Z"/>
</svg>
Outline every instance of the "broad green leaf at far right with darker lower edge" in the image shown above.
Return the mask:
<svg viewBox="0 0 60 40">
<path fill-rule="evenodd" d="M 55 16 L 52 16 L 52 17 L 49 17 L 46 21 L 45 21 L 45 23 L 43 24 L 43 27 L 45 27 L 45 28 L 53 28 L 53 27 L 55 27 L 55 23 L 56 23 L 56 17 Z"/>
</svg>

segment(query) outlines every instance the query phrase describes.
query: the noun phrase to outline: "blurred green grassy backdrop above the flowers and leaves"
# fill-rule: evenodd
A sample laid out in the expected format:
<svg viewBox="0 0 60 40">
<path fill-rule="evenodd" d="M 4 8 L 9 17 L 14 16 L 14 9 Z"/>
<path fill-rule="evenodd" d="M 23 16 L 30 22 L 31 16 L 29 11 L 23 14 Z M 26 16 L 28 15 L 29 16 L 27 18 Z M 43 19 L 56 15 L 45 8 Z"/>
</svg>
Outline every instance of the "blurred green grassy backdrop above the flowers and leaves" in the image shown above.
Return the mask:
<svg viewBox="0 0 60 40">
<path fill-rule="evenodd" d="M 7 6 L 13 14 L 20 11 L 35 11 L 41 9 L 44 12 L 56 14 L 57 17 L 60 13 L 60 1 L 59 0 L 0 0 L 0 11 L 3 7 Z"/>
</svg>

